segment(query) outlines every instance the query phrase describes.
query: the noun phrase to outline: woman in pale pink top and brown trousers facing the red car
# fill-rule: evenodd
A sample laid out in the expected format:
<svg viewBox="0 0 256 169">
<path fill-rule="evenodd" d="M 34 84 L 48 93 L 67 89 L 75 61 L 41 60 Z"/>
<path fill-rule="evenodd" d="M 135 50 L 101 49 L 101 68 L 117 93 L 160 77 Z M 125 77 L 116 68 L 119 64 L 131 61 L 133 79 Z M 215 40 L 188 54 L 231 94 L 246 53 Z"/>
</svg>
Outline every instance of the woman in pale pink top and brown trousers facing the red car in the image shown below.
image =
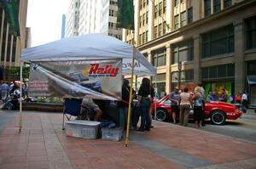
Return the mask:
<svg viewBox="0 0 256 169">
<path fill-rule="evenodd" d="M 183 89 L 183 93 L 180 93 L 180 97 L 178 99 L 179 104 L 179 125 L 187 127 L 189 121 L 189 110 L 190 105 L 192 106 L 192 99 L 189 92 L 189 88 L 185 87 Z"/>
</svg>

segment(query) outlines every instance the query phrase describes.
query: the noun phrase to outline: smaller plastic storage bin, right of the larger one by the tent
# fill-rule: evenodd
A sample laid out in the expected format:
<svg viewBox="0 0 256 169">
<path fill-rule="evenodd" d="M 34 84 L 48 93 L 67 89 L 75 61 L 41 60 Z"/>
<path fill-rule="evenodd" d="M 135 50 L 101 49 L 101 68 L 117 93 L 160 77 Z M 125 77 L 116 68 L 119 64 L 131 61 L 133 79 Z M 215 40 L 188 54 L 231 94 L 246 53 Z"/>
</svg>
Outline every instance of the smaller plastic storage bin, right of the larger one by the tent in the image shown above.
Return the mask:
<svg viewBox="0 0 256 169">
<path fill-rule="evenodd" d="M 114 127 L 114 128 L 104 127 L 104 128 L 102 128 L 102 139 L 108 139 L 111 141 L 119 141 L 122 138 L 123 138 L 123 128 L 121 128 L 121 127 Z"/>
</svg>

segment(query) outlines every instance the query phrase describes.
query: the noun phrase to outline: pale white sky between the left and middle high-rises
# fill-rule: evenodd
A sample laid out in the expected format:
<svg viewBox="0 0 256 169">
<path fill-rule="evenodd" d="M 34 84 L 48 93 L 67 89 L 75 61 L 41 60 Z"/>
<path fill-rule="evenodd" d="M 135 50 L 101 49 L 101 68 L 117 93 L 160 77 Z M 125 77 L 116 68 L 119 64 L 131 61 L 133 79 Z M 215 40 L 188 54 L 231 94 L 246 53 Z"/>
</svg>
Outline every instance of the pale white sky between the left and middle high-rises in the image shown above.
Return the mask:
<svg viewBox="0 0 256 169">
<path fill-rule="evenodd" d="M 32 47 L 61 39 L 62 14 L 69 0 L 28 0 L 26 27 L 31 27 Z"/>
</svg>

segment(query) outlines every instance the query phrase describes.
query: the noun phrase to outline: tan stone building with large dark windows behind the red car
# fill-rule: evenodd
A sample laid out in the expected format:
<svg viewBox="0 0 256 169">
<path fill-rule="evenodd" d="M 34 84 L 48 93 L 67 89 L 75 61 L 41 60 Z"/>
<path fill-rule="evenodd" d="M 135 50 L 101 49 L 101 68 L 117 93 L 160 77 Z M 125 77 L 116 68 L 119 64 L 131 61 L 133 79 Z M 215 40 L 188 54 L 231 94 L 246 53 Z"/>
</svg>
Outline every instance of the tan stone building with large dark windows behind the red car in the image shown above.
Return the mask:
<svg viewBox="0 0 256 169">
<path fill-rule="evenodd" d="M 189 88 L 203 82 L 207 92 L 247 90 L 256 104 L 255 0 L 134 2 L 137 48 L 157 67 L 152 82 L 158 96 L 178 82 Z M 123 32 L 125 42 L 131 37 Z"/>
</svg>

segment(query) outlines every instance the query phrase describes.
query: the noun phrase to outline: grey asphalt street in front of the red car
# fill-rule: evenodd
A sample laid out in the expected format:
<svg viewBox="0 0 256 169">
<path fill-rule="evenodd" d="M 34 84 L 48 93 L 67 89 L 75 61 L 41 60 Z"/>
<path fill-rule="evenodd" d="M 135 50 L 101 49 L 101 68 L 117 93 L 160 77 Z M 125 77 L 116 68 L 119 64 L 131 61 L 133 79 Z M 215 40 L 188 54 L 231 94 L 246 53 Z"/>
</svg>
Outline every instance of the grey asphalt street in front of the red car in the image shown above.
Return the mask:
<svg viewBox="0 0 256 169">
<path fill-rule="evenodd" d="M 189 127 L 194 126 L 190 123 Z M 201 130 L 256 143 L 256 113 L 254 110 L 247 110 L 241 118 L 236 121 L 226 121 L 223 126 L 212 125 L 210 121 L 206 121 L 206 126 Z"/>
</svg>

